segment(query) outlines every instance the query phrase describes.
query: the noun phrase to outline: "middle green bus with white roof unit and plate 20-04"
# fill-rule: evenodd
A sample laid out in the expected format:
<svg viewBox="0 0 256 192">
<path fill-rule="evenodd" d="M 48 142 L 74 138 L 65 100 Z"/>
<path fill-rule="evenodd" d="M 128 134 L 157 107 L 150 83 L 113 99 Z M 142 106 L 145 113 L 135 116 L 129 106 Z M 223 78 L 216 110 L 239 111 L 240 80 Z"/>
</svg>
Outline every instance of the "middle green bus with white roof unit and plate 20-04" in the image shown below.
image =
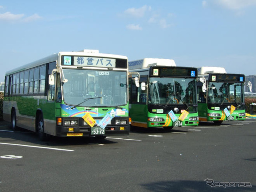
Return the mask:
<svg viewBox="0 0 256 192">
<path fill-rule="evenodd" d="M 128 62 L 139 74 L 140 86 L 129 76 L 129 113 L 132 126 L 170 130 L 197 126 L 197 68 L 178 67 L 172 59 L 144 58 Z"/>
</svg>

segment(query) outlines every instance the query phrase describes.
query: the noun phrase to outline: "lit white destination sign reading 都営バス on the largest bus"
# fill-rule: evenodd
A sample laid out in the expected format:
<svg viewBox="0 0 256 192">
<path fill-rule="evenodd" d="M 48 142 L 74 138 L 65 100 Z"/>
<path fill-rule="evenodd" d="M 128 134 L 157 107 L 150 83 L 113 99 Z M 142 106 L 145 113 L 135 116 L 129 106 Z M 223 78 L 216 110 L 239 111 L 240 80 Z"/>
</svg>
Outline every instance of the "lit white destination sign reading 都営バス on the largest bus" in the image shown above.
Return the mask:
<svg viewBox="0 0 256 192">
<path fill-rule="evenodd" d="M 74 58 L 72 58 L 72 56 L 64 56 L 63 65 L 115 68 L 116 59 L 82 56 L 74 56 Z"/>
</svg>

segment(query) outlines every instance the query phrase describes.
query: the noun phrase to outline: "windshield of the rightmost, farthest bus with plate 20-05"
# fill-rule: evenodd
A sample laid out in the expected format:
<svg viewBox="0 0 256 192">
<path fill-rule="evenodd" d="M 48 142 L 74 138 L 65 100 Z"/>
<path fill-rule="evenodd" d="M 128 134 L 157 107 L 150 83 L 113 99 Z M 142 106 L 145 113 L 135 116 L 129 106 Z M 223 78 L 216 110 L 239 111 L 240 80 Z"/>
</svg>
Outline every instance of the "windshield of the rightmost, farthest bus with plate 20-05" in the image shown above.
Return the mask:
<svg viewBox="0 0 256 192">
<path fill-rule="evenodd" d="M 208 102 L 220 104 L 244 102 L 243 83 L 210 82 L 208 87 Z"/>
</svg>

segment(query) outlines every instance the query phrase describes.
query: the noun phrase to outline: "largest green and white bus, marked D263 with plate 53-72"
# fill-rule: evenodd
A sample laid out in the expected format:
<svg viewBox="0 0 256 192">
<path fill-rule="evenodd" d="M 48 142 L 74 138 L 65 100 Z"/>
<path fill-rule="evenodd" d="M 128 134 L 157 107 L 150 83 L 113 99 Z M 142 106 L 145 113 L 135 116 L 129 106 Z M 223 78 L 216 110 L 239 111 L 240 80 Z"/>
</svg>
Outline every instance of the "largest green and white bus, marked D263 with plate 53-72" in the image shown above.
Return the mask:
<svg viewBox="0 0 256 192">
<path fill-rule="evenodd" d="M 41 140 L 128 135 L 127 82 L 126 56 L 59 52 L 6 72 L 4 120 Z"/>
</svg>

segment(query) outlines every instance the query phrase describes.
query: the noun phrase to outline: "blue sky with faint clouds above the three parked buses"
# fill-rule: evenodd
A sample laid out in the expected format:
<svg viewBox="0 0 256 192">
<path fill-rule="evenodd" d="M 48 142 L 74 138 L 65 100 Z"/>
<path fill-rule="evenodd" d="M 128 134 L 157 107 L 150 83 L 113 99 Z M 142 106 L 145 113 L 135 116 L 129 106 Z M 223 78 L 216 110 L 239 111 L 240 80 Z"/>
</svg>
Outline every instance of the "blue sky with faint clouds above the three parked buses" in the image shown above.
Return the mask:
<svg viewBox="0 0 256 192">
<path fill-rule="evenodd" d="M 2 0 L 0 82 L 59 51 L 98 49 L 256 74 L 256 0 Z"/>
</svg>

